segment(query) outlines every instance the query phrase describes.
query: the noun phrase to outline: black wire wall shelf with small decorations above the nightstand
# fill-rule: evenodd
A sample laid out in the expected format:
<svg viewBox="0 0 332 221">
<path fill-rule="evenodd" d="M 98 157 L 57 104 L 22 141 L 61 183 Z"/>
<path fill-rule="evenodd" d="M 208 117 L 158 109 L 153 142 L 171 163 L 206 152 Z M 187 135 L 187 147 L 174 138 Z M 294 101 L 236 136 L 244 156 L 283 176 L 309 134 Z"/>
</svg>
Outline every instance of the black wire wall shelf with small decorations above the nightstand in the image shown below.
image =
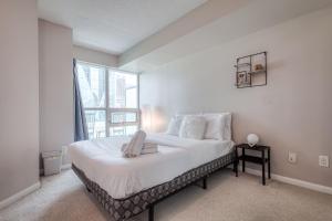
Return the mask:
<svg viewBox="0 0 332 221">
<path fill-rule="evenodd" d="M 238 57 L 235 67 L 237 69 L 236 86 L 238 88 L 268 84 L 267 52 Z"/>
</svg>

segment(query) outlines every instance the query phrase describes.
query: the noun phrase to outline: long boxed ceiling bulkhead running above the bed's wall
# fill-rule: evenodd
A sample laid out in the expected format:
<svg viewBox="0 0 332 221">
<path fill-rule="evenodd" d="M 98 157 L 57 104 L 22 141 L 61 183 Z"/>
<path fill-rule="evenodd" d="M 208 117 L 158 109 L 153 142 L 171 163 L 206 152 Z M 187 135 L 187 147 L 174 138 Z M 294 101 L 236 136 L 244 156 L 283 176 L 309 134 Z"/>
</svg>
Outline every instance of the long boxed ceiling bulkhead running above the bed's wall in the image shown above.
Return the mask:
<svg viewBox="0 0 332 221">
<path fill-rule="evenodd" d="M 118 63 L 142 72 L 329 6 L 331 0 L 209 0 L 121 54 Z"/>
</svg>

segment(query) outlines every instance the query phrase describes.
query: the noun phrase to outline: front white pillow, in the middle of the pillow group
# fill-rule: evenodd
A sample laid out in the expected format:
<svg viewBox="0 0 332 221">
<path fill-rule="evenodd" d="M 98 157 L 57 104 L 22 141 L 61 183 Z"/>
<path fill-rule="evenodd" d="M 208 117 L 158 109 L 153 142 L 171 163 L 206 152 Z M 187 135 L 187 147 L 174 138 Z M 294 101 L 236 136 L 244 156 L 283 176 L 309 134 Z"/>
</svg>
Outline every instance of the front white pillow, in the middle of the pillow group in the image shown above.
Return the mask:
<svg viewBox="0 0 332 221">
<path fill-rule="evenodd" d="M 179 137 L 203 139 L 206 127 L 206 119 L 203 116 L 185 116 L 180 126 Z"/>
</svg>

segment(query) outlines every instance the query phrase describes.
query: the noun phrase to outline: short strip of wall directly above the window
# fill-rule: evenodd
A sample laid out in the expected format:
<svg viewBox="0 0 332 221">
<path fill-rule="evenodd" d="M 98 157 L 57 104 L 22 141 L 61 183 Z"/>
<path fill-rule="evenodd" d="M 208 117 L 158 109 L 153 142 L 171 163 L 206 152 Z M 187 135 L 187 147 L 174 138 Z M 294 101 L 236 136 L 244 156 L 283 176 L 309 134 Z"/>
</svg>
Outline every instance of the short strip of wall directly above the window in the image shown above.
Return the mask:
<svg viewBox="0 0 332 221">
<path fill-rule="evenodd" d="M 73 46 L 73 56 L 77 60 L 95 63 L 95 64 L 102 64 L 105 66 L 117 66 L 117 56 L 113 54 L 107 54 L 104 52 L 82 48 L 82 46 Z"/>
</svg>

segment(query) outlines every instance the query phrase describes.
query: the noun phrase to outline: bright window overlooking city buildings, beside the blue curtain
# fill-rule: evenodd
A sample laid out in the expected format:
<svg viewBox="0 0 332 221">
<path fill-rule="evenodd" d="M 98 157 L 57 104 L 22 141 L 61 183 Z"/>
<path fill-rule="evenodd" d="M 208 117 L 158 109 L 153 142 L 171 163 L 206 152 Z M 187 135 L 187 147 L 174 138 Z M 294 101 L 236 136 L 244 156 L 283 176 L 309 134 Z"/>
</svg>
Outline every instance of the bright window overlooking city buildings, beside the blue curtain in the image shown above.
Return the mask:
<svg viewBox="0 0 332 221">
<path fill-rule="evenodd" d="M 138 129 L 137 74 L 77 62 L 77 75 L 90 139 Z"/>
</svg>

